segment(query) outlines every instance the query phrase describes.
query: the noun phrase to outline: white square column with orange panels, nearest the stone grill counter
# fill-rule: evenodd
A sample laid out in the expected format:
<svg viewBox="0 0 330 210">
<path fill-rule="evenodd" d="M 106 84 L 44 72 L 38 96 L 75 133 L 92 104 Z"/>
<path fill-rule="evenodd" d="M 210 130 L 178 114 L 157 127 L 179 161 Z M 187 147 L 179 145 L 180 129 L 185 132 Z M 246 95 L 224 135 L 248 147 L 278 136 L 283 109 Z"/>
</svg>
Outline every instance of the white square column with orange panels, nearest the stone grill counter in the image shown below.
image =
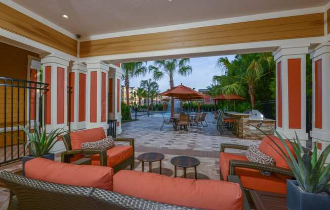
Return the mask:
<svg viewBox="0 0 330 210">
<path fill-rule="evenodd" d="M 276 62 L 276 131 L 288 139 L 308 140 L 306 133 L 306 54 L 308 45 L 280 46 Z M 301 142 L 306 146 L 306 141 Z"/>
</svg>

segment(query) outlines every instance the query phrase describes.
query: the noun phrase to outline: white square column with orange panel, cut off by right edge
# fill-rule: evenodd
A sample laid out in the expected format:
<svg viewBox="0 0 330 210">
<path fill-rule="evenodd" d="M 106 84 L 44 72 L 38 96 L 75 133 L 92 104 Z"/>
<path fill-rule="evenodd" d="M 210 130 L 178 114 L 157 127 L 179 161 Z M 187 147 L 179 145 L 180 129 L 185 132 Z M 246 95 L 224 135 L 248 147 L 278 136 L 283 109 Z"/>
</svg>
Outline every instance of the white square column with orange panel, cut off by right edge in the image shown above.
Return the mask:
<svg viewBox="0 0 330 210">
<path fill-rule="evenodd" d="M 330 144 L 330 42 L 311 50 L 313 66 L 313 118 L 311 137 L 318 152 Z M 326 160 L 330 163 L 330 157 Z"/>
</svg>

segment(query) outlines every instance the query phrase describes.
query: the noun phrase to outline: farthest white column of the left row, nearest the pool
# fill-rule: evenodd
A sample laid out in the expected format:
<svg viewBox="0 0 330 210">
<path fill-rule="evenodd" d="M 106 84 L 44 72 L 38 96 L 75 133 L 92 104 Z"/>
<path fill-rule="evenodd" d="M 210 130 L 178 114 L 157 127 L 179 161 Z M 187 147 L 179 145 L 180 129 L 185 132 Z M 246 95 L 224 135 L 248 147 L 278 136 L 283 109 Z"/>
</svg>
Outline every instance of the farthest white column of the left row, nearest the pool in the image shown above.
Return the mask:
<svg viewBox="0 0 330 210">
<path fill-rule="evenodd" d="M 111 120 L 117 120 L 116 134 L 121 133 L 121 76 L 122 70 L 110 65 L 109 71 L 109 114 Z"/>
</svg>

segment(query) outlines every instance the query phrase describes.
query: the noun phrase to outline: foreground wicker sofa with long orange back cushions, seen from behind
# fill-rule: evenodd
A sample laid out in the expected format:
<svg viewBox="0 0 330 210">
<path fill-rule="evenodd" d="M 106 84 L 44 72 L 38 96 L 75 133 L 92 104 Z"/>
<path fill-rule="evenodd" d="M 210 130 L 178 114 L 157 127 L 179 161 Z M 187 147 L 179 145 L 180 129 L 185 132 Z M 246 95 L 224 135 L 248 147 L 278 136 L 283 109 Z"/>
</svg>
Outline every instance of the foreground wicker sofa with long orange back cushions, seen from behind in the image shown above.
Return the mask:
<svg viewBox="0 0 330 210">
<path fill-rule="evenodd" d="M 27 162 L 26 176 L 0 172 L 13 194 L 11 209 L 250 209 L 236 176 L 228 179 L 238 184 L 128 170 L 113 175 L 110 167 L 42 158 Z"/>
</svg>

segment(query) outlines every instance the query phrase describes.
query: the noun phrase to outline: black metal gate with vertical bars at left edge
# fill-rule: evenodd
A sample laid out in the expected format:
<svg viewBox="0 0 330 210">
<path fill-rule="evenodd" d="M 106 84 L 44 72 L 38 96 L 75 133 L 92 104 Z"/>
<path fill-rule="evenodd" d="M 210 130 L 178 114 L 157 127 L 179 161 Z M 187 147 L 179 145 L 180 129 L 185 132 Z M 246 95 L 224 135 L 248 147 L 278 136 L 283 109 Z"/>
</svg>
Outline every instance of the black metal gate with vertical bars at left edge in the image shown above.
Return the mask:
<svg viewBox="0 0 330 210">
<path fill-rule="evenodd" d="M 26 135 L 18 125 L 29 129 L 43 127 L 48 84 L 0 77 L 0 165 L 19 160 L 26 154 Z"/>
</svg>

